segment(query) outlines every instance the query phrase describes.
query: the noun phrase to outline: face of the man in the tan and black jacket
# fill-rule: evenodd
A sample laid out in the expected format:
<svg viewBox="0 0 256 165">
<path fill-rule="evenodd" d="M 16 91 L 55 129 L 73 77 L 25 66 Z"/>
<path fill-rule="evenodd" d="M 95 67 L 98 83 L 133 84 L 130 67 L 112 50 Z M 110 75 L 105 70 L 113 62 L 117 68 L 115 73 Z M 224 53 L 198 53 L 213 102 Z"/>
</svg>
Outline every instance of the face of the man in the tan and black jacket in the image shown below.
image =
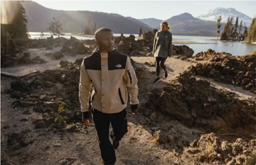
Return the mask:
<svg viewBox="0 0 256 165">
<path fill-rule="evenodd" d="M 99 46 L 101 52 L 111 52 L 114 49 L 114 35 L 112 32 L 101 32 L 95 44 Z"/>
</svg>

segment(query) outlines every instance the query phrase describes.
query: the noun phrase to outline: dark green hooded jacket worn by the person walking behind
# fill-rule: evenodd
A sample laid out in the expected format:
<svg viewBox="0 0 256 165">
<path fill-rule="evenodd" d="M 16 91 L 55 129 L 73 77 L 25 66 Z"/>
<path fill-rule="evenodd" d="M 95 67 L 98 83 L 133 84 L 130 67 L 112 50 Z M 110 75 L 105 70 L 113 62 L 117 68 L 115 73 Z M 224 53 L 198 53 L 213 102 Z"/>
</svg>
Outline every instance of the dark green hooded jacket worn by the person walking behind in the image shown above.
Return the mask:
<svg viewBox="0 0 256 165">
<path fill-rule="evenodd" d="M 156 32 L 152 53 L 155 57 L 161 58 L 172 56 L 172 34 L 170 31 L 159 30 Z"/>
</svg>

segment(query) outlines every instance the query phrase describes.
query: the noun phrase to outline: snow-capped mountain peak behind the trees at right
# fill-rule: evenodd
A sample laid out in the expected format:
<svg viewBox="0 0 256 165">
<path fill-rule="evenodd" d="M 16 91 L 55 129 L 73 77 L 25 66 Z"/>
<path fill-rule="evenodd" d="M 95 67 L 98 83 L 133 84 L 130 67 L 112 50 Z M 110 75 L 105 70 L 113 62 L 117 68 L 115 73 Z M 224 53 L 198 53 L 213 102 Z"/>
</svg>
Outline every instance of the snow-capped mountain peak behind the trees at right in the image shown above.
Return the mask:
<svg viewBox="0 0 256 165">
<path fill-rule="evenodd" d="M 219 16 L 222 16 L 222 23 L 227 23 L 227 19 L 233 17 L 233 24 L 236 23 L 238 17 L 238 25 L 240 25 L 241 20 L 243 20 L 243 26 L 246 25 L 250 27 L 252 23 L 252 18 L 246 16 L 244 13 L 237 11 L 236 9 L 229 8 L 216 8 L 209 10 L 207 13 L 202 14 L 196 18 L 203 20 L 217 21 Z"/>
</svg>

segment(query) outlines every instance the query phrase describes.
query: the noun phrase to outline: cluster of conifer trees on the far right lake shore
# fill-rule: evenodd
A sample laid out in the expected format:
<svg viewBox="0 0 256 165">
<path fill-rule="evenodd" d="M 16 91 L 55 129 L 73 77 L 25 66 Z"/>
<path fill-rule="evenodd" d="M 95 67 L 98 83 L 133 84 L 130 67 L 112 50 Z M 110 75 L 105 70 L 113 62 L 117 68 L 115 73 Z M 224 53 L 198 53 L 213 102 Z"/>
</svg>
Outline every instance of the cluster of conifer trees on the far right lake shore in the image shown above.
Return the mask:
<svg viewBox="0 0 256 165">
<path fill-rule="evenodd" d="M 222 35 L 220 36 L 220 40 L 232 40 L 232 41 L 245 41 L 245 42 L 255 42 L 256 41 L 256 18 L 252 19 L 251 26 L 248 30 L 246 25 L 243 25 L 243 20 L 238 23 L 239 18 L 237 17 L 236 22 L 233 24 L 233 17 L 229 17 L 227 19 L 227 23 L 224 26 L 224 30 Z M 220 29 L 220 22 L 222 17 L 219 16 L 217 20 L 217 33 L 219 37 L 219 29 Z M 239 24 L 239 25 L 238 25 Z M 217 40 L 218 40 L 217 37 Z"/>
</svg>

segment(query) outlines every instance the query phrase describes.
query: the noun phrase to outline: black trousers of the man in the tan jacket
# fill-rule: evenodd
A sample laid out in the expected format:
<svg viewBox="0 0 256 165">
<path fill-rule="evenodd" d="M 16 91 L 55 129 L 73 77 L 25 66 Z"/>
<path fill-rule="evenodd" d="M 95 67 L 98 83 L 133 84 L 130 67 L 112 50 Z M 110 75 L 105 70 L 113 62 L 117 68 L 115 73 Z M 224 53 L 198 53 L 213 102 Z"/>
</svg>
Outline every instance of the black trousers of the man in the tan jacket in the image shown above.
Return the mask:
<svg viewBox="0 0 256 165">
<path fill-rule="evenodd" d="M 126 109 L 119 113 L 102 113 L 93 110 L 93 120 L 99 137 L 99 145 L 101 157 L 104 164 L 114 164 L 116 161 L 115 150 L 109 140 L 109 126 L 112 125 L 115 137 L 121 140 L 123 135 L 127 133 Z"/>
</svg>

